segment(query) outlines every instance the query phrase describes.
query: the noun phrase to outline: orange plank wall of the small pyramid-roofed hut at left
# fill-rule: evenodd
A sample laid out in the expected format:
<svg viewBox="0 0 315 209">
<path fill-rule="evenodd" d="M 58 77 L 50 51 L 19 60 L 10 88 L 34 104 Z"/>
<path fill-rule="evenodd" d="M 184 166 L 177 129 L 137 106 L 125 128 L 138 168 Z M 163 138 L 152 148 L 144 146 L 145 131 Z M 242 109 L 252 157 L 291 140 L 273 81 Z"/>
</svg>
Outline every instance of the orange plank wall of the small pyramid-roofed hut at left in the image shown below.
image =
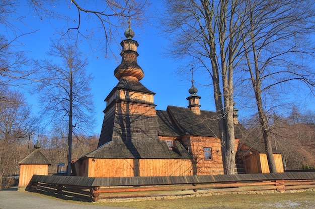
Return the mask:
<svg viewBox="0 0 315 209">
<path fill-rule="evenodd" d="M 48 164 L 21 164 L 19 189 L 25 189 L 34 174 L 48 175 Z"/>
</svg>

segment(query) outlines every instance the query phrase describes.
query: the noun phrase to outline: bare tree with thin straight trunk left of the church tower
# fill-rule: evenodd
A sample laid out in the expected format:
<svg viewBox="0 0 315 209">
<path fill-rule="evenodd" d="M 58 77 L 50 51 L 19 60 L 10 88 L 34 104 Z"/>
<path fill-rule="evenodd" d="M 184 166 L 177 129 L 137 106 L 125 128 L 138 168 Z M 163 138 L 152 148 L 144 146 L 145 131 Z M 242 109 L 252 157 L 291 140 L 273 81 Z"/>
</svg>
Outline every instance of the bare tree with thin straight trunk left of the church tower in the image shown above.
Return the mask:
<svg viewBox="0 0 315 209">
<path fill-rule="evenodd" d="M 38 85 L 40 101 L 49 121 L 68 124 L 68 165 L 70 175 L 72 133 L 76 137 L 89 133 L 94 125 L 94 105 L 89 83 L 91 75 L 86 75 L 87 60 L 82 59 L 76 45 L 52 42 L 47 54 L 52 60 L 37 62 L 42 71 Z"/>
</svg>

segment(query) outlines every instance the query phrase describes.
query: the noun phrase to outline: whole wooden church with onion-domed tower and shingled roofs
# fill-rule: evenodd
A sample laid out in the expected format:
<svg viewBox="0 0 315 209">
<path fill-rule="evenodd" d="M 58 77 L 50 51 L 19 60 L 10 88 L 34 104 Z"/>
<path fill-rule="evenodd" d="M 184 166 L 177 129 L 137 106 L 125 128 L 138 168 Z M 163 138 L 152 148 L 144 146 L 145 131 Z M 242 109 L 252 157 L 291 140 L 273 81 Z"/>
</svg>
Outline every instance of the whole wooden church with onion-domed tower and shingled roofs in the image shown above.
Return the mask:
<svg viewBox="0 0 315 209">
<path fill-rule="evenodd" d="M 197 89 L 189 89 L 188 108 L 155 110 L 154 93 L 139 81 L 138 43 L 130 26 L 121 42 L 118 84 L 106 97 L 98 148 L 72 163 L 72 173 L 88 177 L 223 174 L 215 112 L 200 110 Z M 235 114 L 235 151 L 242 127 Z M 240 128 L 238 128 L 240 127 Z"/>
</svg>

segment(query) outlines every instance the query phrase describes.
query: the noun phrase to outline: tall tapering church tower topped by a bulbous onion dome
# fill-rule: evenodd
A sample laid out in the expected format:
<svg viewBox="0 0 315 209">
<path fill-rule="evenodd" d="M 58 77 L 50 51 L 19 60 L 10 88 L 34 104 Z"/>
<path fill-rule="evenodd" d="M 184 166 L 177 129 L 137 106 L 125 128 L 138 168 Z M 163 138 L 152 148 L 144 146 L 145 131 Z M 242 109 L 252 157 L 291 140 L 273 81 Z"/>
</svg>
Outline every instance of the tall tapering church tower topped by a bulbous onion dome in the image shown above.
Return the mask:
<svg viewBox="0 0 315 209">
<path fill-rule="evenodd" d="M 129 22 L 125 32 L 127 39 L 120 43 L 122 61 L 114 71 L 119 82 L 105 99 L 105 116 L 98 147 L 111 142 L 124 147 L 129 157 L 170 157 L 166 143 L 158 136 L 159 123 L 153 103 L 155 93 L 139 82 L 144 73 L 137 63 L 139 45 L 132 40 L 133 36 Z M 155 150 L 148 151 L 153 145 Z"/>
</svg>

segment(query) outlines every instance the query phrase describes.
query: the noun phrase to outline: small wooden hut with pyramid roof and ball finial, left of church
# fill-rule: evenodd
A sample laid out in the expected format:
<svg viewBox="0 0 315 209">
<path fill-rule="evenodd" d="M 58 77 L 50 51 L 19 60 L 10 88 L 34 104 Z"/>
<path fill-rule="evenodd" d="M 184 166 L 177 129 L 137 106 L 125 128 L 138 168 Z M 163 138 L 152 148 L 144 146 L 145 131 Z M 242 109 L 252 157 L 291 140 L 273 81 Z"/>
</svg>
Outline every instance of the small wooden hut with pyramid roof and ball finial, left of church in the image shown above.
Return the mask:
<svg viewBox="0 0 315 209">
<path fill-rule="evenodd" d="M 37 142 L 34 145 L 35 150 L 19 162 L 19 190 L 24 190 L 27 187 L 34 174 L 48 175 L 48 166 L 50 165 L 50 162 L 41 153 L 39 150 L 40 147 L 40 144 Z"/>
</svg>

